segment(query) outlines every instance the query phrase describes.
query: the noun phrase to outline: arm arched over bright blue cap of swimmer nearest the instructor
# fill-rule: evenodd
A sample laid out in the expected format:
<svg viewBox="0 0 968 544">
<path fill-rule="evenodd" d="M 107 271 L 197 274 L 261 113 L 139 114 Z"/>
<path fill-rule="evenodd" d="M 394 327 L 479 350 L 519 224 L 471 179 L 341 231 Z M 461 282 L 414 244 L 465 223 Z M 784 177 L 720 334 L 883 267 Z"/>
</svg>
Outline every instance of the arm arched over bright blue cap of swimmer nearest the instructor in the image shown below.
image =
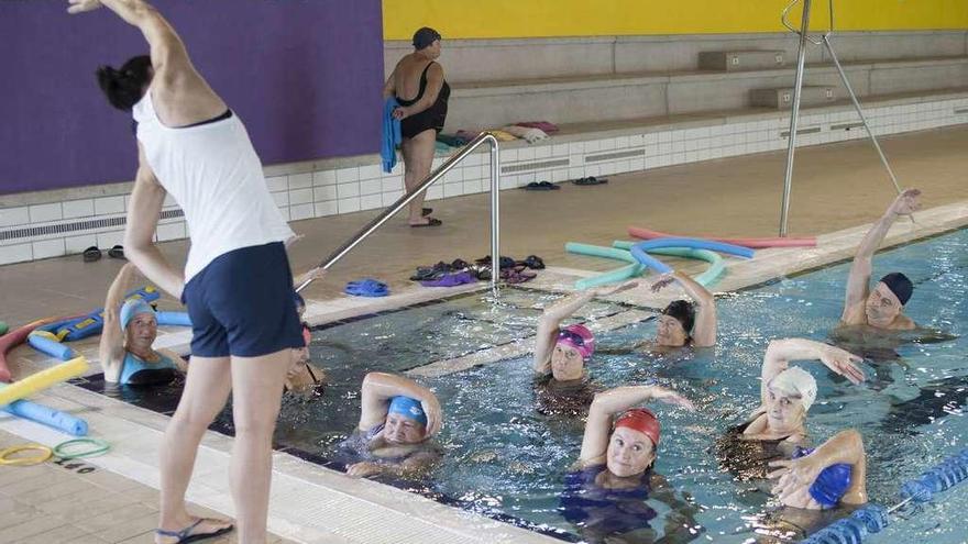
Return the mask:
<svg viewBox="0 0 968 544">
<path fill-rule="evenodd" d="M 440 430 L 443 413 L 437 396 L 416 381 L 386 373 L 370 373 L 363 378 L 360 402 L 360 431 L 369 431 L 386 420 L 389 399 L 404 396 L 420 402 L 427 414 L 427 436 Z"/>
</svg>

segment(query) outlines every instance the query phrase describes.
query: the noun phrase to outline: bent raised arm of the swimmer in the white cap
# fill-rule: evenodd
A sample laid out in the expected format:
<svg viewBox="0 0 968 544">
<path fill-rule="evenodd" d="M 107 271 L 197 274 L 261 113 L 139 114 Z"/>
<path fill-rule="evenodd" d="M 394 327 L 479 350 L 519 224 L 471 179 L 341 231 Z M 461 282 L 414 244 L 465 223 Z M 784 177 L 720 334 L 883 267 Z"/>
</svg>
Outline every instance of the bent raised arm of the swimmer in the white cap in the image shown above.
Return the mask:
<svg viewBox="0 0 968 544">
<path fill-rule="evenodd" d="M 767 346 L 760 375 L 762 378 L 760 395 L 765 406 L 767 403 L 767 386 L 770 380 L 790 366 L 791 360 L 820 360 L 827 368 L 854 384 L 864 381 L 864 370 L 857 366 L 864 359 L 850 352 L 806 338 L 774 340 Z"/>
</svg>

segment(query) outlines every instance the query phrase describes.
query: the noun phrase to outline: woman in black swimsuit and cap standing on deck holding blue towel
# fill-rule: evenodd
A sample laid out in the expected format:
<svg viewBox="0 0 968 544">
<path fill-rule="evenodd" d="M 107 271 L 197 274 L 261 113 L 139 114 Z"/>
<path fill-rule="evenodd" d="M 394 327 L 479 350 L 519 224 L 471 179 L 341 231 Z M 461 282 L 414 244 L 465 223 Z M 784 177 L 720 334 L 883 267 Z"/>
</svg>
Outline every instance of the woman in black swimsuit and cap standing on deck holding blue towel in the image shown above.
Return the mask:
<svg viewBox="0 0 968 544">
<path fill-rule="evenodd" d="M 400 120 L 404 141 L 404 185 L 414 190 L 427 176 L 433 164 L 437 133 L 447 119 L 450 86 L 443 80 L 443 68 L 435 60 L 440 57 L 440 33 L 422 27 L 414 34 L 414 53 L 397 63 L 383 87 L 383 98 L 395 96 L 400 107 L 394 116 Z M 410 226 L 438 226 L 439 219 L 429 217 L 424 208 L 424 195 L 410 203 Z M 425 217 L 427 215 L 427 217 Z"/>
</svg>

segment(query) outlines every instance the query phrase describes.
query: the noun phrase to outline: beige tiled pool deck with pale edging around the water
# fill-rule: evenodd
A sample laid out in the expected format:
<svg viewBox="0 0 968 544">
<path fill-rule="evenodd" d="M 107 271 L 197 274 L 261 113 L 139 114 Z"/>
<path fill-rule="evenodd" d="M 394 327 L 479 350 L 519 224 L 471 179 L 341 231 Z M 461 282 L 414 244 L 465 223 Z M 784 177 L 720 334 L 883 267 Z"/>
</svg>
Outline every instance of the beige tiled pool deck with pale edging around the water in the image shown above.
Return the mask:
<svg viewBox="0 0 968 544">
<path fill-rule="evenodd" d="M 916 223 L 899 221 L 887 245 L 968 224 L 968 127 L 890 137 L 883 145 L 899 177 L 917 180 L 905 185 L 924 191 L 922 200 L 927 208 L 915 214 Z M 613 240 L 628 238 L 628 224 L 676 234 L 776 235 L 782 164 L 782 153 L 768 153 L 615 176 L 606 186 L 505 191 L 502 253 L 541 255 L 549 269 L 525 287 L 568 291 L 575 279 L 617 265 L 566 255 L 566 241 L 610 245 Z M 799 149 L 796 164 L 790 230 L 798 235 L 818 235 L 818 246 L 759 251 L 748 260 L 729 258 L 727 275 L 715 284 L 715 291 L 733 291 L 849 258 L 869 222 L 893 197 L 867 142 Z M 407 281 L 417 265 L 455 257 L 473 259 L 487 253 L 486 196 L 430 206 L 439 208 L 437 215 L 446 221 L 444 227 L 388 225 L 338 265 L 330 277 L 309 288 L 309 321 L 321 324 L 482 288 L 444 290 Z M 373 215 L 364 212 L 294 223 L 294 229 L 306 235 L 292 252 L 294 269 L 309 267 Z M 164 244 L 163 251 L 182 263 L 186 244 Z M 693 271 L 704 265 L 684 266 Z M 96 308 L 103 303 L 103 293 L 119 267 L 119 262 L 107 258 L 85 265 L 79 256 L 0 267 L 4 298 L 0 319 L 16 325 Z M 339 295 L 338 286 L 364 275 L 387 280 L 394 295 L 376 300 Z M 647 284 L 622 295 L 620 301 L 630 304 L 626 312 L 598 320 L 594 327 L 609 330 L 640 321 L 676 295 L 670 289 L 653 296 Z M 166 299 L 163 307 L 177 304 Z M 188 340 L 187 331 L 168 329 L 157 345 L 185 351 Z M 428 362 L 411 374 L 433 376 L 488 364 L 525 354 L 529 345 L 524 340 L 458 359 Z M 75 347 L 91 359 L 92 371 L 99 371 L 97 338 Z M 23 347 L 12 352 L 9 360 L 15 377 L 55 363 Z M 37 398 L 84 417 L 91 434 L 108 440 L 114 448 L 86 460 L 96 468 L 87 475 L 50 463 L 32 468 L 0 467 L 0 503 L 6 506 L 0 506 L 0 542 L 151 542 L 157 510 L 157 448 L 167 418 L 68 385 L 47 389 Z M 63 434 L 46 428 L 0 417 L 0 446 L 28 441 L 53 445 L 63 440 Z M 233 514 L 227 474 L 231 444 L 231 437 L 213 432 L 202 442 L 188 491 L 200 513 Z M 78 511 L 77 503 L 68 500 L 91 496 L 105 496 L 98 503 L 106 501 L 105 511 L 112 514 Z M 288 539 L 282 542 L 554 542 L 395 488 L 351 479 L 284 453 L 275 455 L 270 530 L 276 539 Z"/>
</svg>

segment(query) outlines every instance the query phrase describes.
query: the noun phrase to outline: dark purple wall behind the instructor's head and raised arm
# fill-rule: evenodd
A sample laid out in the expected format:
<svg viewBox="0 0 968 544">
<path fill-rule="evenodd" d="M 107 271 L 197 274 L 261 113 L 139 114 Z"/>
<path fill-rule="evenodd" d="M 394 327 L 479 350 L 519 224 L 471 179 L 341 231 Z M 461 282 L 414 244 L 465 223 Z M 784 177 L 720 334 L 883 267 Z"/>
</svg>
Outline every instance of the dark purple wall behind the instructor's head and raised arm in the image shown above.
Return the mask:
<svg viewBox="0 0 968 544">
<path fill-rule="evenodd" d="M 264 164 L 380 149 L 380 0 L 155 0 L 199 71 L 245 122 Z M 130 115 L 99 64 L 147 53 L 107 9 L 0 1 L 0 195 L 134 178 Z"/>
</svg>

